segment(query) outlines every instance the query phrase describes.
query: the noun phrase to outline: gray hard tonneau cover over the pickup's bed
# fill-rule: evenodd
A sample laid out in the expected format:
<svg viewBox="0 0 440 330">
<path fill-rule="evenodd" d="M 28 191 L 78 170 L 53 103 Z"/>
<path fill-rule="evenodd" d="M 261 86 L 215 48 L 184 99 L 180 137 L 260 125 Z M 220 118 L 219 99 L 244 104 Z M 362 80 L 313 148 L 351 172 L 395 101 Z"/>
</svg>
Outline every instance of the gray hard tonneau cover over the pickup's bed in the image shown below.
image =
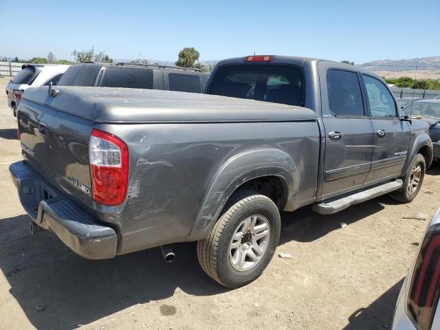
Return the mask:
<svg viewBox="0 0 440 330">
<path fill-rule="evenodd" d="M 30 88 L 24 100 L 95 122 L 236 122 L 316 120 L 311 109 L 225 96 L 155 89 L 57 86 Z"/>
</svg>

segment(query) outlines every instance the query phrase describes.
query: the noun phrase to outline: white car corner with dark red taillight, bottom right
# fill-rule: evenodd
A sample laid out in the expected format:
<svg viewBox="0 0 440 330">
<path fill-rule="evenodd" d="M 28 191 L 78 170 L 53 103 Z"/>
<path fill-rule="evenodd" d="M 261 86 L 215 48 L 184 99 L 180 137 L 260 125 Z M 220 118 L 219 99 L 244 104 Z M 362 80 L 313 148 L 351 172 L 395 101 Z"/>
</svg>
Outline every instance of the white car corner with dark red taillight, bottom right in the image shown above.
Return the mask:
<svg viewBox="0 0 440 330">
<path fill-rule="evenodd" d="M 401 287 L 393 330 L 440 329 L 440 209 L 430 221 Z"/>
</svg>

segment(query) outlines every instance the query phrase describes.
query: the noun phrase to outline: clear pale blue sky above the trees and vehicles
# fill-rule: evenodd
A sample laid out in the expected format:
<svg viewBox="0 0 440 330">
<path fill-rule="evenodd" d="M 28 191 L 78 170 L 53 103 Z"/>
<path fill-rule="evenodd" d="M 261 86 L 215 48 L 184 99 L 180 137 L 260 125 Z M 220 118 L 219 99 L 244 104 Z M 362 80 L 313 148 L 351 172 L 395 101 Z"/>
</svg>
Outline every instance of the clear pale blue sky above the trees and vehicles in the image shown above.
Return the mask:
<svg viewBox="0 0 440 330">
<path fill-rule="evenodd" d="M 365 63 L 440 56 L 439 23 L 439 0 L 0 0 L 0 56 L 72 60 L 94 46 L 116 59 L 176 61 L 195 47 L 201 61 L 256 52 Z"/>
</svg>

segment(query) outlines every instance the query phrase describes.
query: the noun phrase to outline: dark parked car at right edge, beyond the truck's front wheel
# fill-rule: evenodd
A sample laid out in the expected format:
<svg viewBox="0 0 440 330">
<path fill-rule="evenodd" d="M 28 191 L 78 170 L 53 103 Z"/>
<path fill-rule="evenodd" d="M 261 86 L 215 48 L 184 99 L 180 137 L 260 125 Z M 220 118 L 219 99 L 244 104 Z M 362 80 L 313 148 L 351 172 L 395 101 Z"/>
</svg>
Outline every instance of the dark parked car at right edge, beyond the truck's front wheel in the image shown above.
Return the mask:
<svg viewBox="0 0 440 330">
<path fill-rule="evenodd" d="M 440 100 L 418 100 L 403 109 L 412 118 L 428 122 L 434 146 L 434 161 L 440 163 Z"/>
</svg>

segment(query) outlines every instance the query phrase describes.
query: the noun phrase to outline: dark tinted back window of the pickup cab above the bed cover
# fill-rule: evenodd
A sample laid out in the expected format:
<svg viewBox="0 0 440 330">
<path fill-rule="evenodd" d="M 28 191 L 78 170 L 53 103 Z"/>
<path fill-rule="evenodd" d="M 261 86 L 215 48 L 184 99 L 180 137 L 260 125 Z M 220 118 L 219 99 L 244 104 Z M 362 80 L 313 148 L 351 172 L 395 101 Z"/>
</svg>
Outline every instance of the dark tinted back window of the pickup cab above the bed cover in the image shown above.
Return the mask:
<svg viewBox="0 0 440 330">
<path fill-rule="evenodd" d="M 215 74 L 209 94 L 303 106 L 303 74 L 287 65 L 228 65 Z"/>
</svg>

